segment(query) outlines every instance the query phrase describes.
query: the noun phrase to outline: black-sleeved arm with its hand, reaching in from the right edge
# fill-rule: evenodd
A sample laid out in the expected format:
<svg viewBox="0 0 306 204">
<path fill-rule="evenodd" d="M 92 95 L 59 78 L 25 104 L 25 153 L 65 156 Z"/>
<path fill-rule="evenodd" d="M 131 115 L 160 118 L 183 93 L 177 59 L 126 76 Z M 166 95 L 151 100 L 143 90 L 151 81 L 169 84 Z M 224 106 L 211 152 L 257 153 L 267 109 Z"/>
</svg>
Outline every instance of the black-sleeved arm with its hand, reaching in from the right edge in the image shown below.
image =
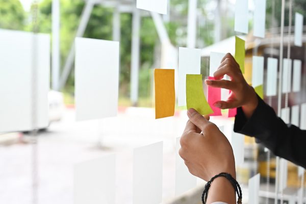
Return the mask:
<svg viewBox="0 0 306 204">
<path fill-rule="evenodd" d="M 230 81 L 221 80 L 225 74 L 231 77 Z M 276 116 L 274 110 L 246 83 L 231 54 L 222 59 L 214 77 L 216 80 L 206 80 L 206 84 L 232 90 L 227 101 L 217 101 L 214 105 L 221 109 L 238 108 L 235 132 L 256 137 L 276 156 L 306 167 L 306 131 L 287 125 Z"/>
</svg>

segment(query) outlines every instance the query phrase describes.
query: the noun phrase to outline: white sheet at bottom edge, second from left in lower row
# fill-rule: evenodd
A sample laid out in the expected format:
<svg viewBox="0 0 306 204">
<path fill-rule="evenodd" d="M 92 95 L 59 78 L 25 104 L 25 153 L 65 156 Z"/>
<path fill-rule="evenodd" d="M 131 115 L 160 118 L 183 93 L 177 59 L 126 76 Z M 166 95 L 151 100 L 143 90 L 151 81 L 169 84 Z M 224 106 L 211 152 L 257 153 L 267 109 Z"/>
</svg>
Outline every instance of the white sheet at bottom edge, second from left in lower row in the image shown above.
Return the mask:
<svg viewBox="0 0 306 204">
<path fill-rule="evenodd" d="M 133 203 L 162 202 L 163 142 L 134 149 Z"/>
</svg>

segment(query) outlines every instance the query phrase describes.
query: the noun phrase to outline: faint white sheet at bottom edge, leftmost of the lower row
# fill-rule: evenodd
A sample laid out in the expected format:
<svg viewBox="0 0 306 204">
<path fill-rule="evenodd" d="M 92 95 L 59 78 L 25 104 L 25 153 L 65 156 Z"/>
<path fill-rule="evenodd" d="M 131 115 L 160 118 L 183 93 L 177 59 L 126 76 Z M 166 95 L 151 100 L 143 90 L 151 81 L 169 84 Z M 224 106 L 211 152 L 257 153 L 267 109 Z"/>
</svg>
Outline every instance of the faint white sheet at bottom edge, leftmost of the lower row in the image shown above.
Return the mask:
<svg viewBox="0 0 306 204">
<path fill-rule="evenodd" d="M 115 155 L 74 166 L 74 204 L 115 203 Z"/>
</svg>

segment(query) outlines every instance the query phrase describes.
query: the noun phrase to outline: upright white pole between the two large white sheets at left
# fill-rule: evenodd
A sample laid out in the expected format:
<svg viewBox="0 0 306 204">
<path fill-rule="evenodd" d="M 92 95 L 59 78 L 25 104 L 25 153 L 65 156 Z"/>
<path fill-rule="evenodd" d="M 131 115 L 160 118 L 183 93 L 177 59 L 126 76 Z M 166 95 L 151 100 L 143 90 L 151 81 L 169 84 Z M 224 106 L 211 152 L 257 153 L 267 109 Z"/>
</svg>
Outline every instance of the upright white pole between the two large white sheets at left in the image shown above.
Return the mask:
<svg viewBox="0 0 306 204">
<path fill-rule="evenodd" d="M 52 88 L 59 89 L 60 78 L 60 1 L 52 1 Z"/>
</svg>

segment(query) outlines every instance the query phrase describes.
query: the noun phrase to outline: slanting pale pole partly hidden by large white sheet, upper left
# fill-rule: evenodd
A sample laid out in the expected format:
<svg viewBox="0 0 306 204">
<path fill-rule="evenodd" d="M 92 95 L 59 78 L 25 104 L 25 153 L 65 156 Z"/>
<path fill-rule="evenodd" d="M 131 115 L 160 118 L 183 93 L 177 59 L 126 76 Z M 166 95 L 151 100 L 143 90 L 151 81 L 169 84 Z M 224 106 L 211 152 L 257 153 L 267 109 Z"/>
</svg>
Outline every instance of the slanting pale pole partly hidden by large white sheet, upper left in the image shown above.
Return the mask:
<svg viewBox="0 0 306 204">
<path fill-rule="evenodd" d="M 92 1 L 88 1 L 86 2 L 86 5 L 83 9 L 82 12 L 82 16 L 81 16 L 81 20 L 80 20 L 80 24 L 77 30 L 77 34 L 75 34 L 75 37 L 82 37 L 84 35 L 92 8 L 94 6 L 94 3 Z M 62 77 L 60 80 L 60 87 L 59 89 L 63 88 L 66 84 L 66 81 L 68 79 L 68 76 L 70 74 L 71 68 L 72 68 L 72 64 L 73 64 L 73 60 L 74 60 L 74 41 L 72 42 L 68 57 L 66 59 L 65 62 L 65 66 L 64 66 L 64 70 L 62 72 Z"/>
</svg>

